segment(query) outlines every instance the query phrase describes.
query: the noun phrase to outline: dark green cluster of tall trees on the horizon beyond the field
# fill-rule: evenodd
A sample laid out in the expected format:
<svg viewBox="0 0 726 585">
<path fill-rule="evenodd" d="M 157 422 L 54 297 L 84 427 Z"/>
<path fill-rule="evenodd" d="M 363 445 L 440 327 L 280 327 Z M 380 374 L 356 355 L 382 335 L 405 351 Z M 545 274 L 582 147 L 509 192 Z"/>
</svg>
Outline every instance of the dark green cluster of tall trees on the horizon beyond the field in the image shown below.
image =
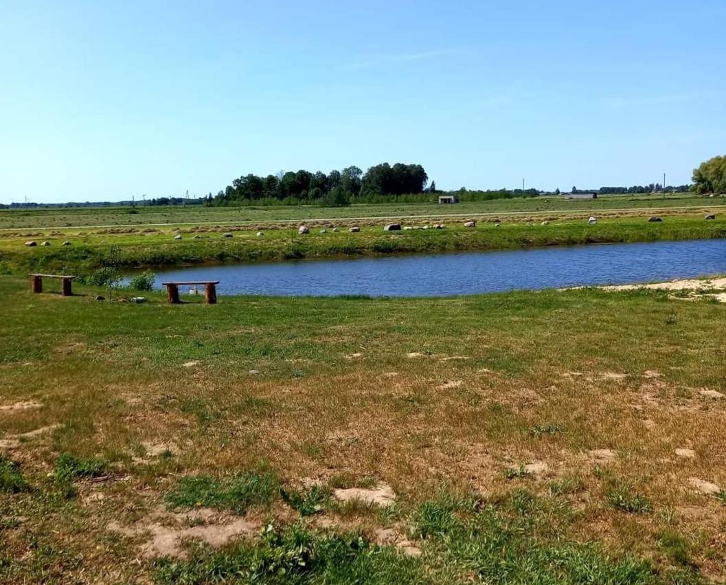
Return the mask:
<svg viewBox="0 0 726 585">
<path fill-rule="evenodd" d="M 342 171 L 280 172 L 258 177 L 248 174 L 234 179 L 216 197 L 207 198 L 211 205 L 229 205 L 261 200 L 278 200 L 286 203 L 314 203 L 347 205 L 359 195 L 404 195 L 423 193 L 428 175 L 420 164 L 388 163 L 370 167 L 363 173 L 357 166 Z M 435 183 L 431 189 L 436 190 Z"/>
</svg>

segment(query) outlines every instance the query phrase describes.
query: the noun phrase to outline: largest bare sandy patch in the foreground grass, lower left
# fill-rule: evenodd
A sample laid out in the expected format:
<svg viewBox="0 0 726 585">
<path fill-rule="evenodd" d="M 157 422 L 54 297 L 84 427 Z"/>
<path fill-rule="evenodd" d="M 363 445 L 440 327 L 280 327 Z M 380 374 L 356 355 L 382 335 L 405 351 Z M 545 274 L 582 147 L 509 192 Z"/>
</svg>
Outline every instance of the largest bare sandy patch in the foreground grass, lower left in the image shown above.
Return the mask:
<svg viewBox="0 0 726 585">
<path fill-rule="evenodd" d="M 190 524 L 193 524 L 191 527 Z M 172 514 L 158 510 L 147 520 L 130 527 L 118 522 L 107 525 L 111 532 L 137 537 L 150 534 L 151 541 L 142 547 L 144 557 L 186 558 L 182 541 L 197 538 L 210 546 L 222 546 L 237 536 L 254 536 L 259 526 L 240 517 L 230 517 L 211 509 L 200 508 L 188 514 Z"/>
</svg>

